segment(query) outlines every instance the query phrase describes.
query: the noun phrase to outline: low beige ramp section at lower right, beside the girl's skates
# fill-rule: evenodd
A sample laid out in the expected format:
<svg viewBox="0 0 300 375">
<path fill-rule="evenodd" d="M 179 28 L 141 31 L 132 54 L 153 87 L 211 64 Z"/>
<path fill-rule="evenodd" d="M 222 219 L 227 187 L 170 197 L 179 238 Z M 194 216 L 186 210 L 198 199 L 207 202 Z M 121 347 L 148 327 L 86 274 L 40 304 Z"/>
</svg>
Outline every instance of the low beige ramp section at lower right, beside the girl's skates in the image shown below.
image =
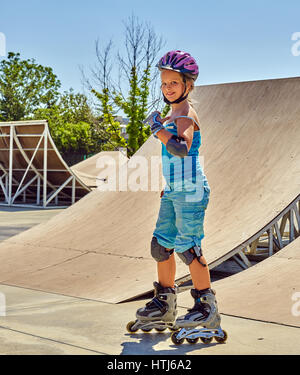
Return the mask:
<svg viewBox="0 0 300 375">
<path fill-rule="evenodd" d="M 300 327 L 299 270 L 300 237 L 248 270 L 215 282 L 220 311 Z"/>
</svg>

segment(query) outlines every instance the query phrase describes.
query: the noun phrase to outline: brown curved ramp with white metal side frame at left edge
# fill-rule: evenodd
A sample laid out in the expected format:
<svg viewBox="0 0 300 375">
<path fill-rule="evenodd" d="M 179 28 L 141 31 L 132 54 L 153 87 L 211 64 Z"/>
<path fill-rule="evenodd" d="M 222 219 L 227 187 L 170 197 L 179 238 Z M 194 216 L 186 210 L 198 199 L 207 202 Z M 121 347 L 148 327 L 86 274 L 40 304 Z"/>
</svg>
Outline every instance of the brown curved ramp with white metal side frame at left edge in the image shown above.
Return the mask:
<svg viewBox="0 0 300 375">
<path fill-rule="evenodd" d="M 69 206 L 89 191 L 60 156 L 46 120 L 0 122 L 0 204 Z"/>
</svg>

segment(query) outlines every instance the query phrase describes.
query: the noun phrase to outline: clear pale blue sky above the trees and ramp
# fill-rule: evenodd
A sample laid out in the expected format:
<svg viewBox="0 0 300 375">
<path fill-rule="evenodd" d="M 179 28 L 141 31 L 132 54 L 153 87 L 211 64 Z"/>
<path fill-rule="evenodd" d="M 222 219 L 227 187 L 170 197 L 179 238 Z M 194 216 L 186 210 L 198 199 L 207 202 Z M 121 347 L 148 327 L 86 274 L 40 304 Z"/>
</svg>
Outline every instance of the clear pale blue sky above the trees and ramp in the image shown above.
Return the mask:
<svg viewBox="0 0 300 375">
<path fill-rule="evenodd" d="M 164 37 L 165 51 L 197 59 L 197 85 L 300 75 L 291 52 L 299 0 L 0 0 L 0 32 L 6 52 L 52 67 L 62 90 L 82 91 L 79 65 L 95 65 L 95 40 L 121 49 L 132 13 Z"/>
</svg>

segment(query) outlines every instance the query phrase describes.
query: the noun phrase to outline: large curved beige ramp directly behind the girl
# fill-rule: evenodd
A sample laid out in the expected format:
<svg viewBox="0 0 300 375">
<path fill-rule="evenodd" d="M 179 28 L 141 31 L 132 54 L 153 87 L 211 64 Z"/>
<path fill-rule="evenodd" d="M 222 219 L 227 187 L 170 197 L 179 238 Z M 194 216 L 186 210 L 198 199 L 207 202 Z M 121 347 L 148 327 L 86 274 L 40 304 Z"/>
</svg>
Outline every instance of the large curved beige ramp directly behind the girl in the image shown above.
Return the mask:
<svg viewBox="0 0 300 375">
<path fill-rule="evenodd" d="M 300 78 L 201 86 L 194 100 L 211 186 L 203 251 L 214 266 L 299 194 Z M 151 137 L 138 155 L 160 149 Z M 92 191 L 2 243 L 0 282 L 108 302 L 151 289 L 159 201 L 159 192 Z M 186 274 L 178 261 L 177 277 Z"/>
</svg>

